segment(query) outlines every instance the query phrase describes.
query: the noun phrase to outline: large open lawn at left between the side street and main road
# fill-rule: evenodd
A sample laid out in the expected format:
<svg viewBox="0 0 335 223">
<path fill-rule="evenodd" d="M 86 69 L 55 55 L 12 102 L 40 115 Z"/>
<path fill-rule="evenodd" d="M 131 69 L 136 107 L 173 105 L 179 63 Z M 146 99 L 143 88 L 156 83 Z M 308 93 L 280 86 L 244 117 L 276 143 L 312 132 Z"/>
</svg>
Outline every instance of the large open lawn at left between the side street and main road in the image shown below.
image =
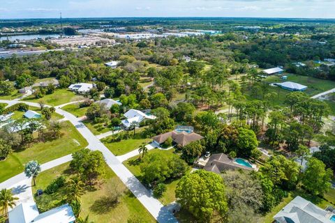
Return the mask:
<svg viewBox="0 0 335 223">
<path fill-rule="evenodd" d="M 62 123 L 62 136 L 53 141 L 34 143 L 23 151 L 11 153 L 6 160 L 0 162 L 0 182 L 7 180 L 24 170 L 24 164 L 31 160 L 39 163 L 63 157 L 75 151 L 85 148 L 87 141 L 68 121 Z"/>
</svg>

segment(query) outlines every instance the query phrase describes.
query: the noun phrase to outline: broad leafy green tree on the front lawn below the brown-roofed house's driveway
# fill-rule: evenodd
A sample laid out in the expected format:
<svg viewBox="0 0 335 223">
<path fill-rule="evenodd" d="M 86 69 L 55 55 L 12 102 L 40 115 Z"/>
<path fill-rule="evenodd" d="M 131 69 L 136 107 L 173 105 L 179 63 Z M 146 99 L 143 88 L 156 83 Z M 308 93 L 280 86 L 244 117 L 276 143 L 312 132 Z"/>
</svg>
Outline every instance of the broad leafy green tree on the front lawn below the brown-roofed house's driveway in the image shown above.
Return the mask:
<svg viewBox="0 0 335 223">
<path fill-rule="evenodd" d="M 178 155 L 164 156 L 158 153 L 149 153 L 142 159 L 140 169 L 144 182 L 156 185 L 169 179 L 180 178 L 186 173 L 188 166 Z"/>
</svg>

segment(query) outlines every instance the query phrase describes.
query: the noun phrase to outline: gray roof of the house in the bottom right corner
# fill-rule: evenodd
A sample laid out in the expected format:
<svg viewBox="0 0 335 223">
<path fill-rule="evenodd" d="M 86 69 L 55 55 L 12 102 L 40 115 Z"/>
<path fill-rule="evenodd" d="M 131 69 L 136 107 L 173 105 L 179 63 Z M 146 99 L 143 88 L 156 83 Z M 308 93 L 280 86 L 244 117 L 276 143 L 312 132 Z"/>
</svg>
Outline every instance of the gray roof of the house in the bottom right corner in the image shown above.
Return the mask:
<svg viewBox="0 0 335 223">
<path fill-rule="evenodd" d="M 274 220 L 279 223 L 332 223 L 331 216 L 327 210 L 297 196 L 274 215 Z"/>
</svg>

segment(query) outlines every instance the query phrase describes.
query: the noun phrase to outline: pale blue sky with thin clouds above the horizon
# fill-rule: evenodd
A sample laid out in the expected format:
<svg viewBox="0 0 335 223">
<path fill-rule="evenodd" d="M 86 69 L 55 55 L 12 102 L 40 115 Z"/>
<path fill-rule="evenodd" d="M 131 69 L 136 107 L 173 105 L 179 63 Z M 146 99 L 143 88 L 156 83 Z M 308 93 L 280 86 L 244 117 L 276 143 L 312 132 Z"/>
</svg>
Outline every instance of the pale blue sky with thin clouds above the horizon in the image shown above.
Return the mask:
<svg viewBox="0 0 335 223">
<path fill-rule="evenodd" d="M 0 0 L 0 19 L 59 17 L 335 18 L 335 0 Z"/>
</svg>

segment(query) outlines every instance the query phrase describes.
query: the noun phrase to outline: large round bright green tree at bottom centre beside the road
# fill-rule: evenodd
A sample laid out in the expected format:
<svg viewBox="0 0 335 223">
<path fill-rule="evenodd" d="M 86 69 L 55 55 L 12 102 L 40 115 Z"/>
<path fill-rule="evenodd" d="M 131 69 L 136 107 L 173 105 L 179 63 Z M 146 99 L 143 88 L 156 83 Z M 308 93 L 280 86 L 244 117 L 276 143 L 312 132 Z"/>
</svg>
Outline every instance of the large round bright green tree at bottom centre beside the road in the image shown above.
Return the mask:
<svg viewBox="0 0 335 223">
<path fill-rule="evenodd" d="M 221 176 L 198 170 L 181 178 L 176 189 L 177 202 L 200 222 L 223 220 L 228 213 L 225 185 Z"/>
</svg>

